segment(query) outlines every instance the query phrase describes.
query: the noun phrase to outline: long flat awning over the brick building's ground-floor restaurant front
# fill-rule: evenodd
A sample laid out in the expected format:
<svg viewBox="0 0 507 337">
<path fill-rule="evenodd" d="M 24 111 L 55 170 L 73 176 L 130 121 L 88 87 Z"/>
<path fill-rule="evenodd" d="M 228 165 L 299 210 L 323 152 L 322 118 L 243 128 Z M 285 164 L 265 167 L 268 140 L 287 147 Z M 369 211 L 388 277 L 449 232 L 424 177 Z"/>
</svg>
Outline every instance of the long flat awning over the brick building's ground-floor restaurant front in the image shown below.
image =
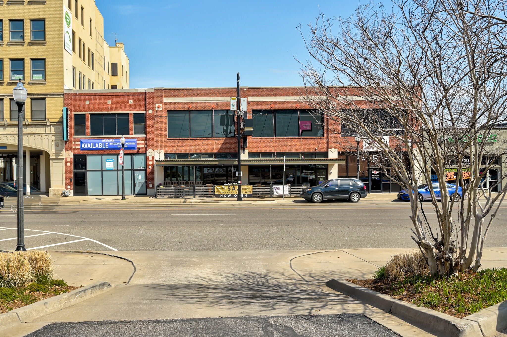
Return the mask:
<svg viewBox="0 0 507 337">
<path fill-rule="evenodd" d="M 155 161 L 157 166 L 194 166 L 194 165 L 238 165 L 235 159 L 165 159 Z M 249 158 L 242 159 L 241 165 L 283 165 L 283 158 Z M 308 164 L 345 164 L 344 158 L 308 158 L 308 159 L 285 159 L 286 165 L 308 165 Z"/>
</svg>

